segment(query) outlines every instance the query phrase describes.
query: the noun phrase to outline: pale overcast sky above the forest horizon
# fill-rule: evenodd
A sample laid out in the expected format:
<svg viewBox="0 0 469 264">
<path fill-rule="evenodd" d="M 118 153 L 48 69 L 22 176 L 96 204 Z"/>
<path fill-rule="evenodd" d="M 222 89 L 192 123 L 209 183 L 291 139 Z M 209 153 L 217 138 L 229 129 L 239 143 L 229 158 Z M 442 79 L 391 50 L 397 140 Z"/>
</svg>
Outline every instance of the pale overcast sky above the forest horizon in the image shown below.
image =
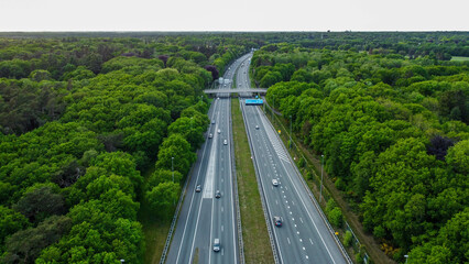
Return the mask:
<svg viewBox="0 0 469 264">
<path fill-rule="evenodd" d="M 468 0 L 0 0 L 3 31 L 469 31 Z"/>
</svg>

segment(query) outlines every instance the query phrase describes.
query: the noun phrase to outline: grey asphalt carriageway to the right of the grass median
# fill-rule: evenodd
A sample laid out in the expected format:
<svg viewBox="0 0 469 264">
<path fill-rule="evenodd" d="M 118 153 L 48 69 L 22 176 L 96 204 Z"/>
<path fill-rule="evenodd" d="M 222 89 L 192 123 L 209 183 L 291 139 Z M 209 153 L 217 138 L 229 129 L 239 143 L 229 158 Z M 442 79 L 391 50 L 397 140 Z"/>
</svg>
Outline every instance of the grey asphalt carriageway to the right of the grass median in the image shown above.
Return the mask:
<svg viewBox="0 0 469 264">
<path fill-rule="evenodd" d="M 248 88 L 250 56 L 237 75 L 238 88 Z M 261 184 L 271 239 L 280 263 L 347 263 L 302 183 L 295 164 L 262 109 L 240 99 L 254 167 Z M 258 128 L 257 128 L 258 125 Z M 279 186 L 272 184 L 277 179 Z M 275 227 L 273 217 L 283 226 Z"/>
</svg>

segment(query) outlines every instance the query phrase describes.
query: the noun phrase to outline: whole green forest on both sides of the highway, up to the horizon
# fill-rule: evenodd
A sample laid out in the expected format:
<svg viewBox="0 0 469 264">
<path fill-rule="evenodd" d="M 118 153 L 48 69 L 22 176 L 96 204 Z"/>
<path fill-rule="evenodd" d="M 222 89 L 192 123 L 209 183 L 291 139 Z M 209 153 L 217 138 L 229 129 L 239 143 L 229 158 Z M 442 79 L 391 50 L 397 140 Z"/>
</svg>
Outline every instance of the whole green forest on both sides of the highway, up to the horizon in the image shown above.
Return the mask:
<svg viewBox="0 0 469 264">
<path fill-rule="evenodd" d="M 468 36 L 0 33 L 0 263 L 143 263 L 139 210 L 171 218 L 203 90 L 251 48 L 253 84 L 390 257 L 466 263 Z"/>
</svg>

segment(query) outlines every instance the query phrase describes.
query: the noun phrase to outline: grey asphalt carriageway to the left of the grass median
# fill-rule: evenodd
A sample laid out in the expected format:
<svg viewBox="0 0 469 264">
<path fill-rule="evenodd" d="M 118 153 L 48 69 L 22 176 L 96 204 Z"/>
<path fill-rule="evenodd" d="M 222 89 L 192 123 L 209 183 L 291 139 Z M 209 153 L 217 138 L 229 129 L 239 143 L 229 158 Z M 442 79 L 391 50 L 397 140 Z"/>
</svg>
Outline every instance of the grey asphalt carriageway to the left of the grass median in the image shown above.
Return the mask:
<svg viewBox="0 0 469 264">
<path fill-rule="evenodd" d="M 236 67 L 234 63 L 223 77 L 232 79 Z M 220 84 L 219 88 L 229 86 Z M 184 190 L 166 263 L 240 263 L 230 110 L 230 99 L 223 95 L 210 107 L 210 128 Z M 200 193 L 195 191 L 197 185 Z M 220 198 L 215 197 L 217 190 Z M 212 250 L 215 239 L 220 241 L 219 252 Z"/>
</svg>

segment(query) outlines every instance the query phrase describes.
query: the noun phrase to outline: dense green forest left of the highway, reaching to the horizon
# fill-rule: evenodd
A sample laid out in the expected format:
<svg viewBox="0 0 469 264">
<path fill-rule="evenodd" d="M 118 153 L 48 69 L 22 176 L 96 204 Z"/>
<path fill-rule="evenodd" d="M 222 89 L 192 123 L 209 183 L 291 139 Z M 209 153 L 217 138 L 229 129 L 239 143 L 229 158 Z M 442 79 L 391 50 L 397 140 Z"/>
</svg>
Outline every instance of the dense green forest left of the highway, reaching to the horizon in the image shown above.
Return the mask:
<svg viewBox="0 0 469 264">
<path fill-rule="evenodd" d="M 217 40 L 0 38 L 1 263 L 142 263 L 140 205 L 166 220 L 209 124 L 204 67 L 249 50 Z"/>
</svg>

